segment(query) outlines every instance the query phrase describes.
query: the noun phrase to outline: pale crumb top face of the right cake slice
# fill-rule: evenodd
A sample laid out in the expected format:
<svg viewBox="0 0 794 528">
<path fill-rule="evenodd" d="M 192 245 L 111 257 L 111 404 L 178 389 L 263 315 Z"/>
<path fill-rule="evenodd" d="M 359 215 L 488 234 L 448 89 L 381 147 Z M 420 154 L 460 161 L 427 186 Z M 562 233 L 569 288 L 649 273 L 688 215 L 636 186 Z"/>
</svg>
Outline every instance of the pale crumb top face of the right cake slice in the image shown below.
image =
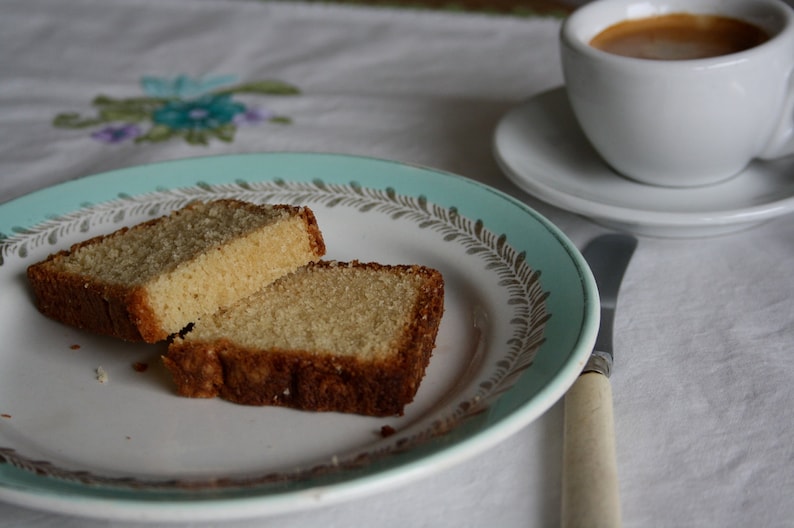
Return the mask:
<svg viewBox="0 0 794 528">
<path fill-rule="evenodd" d="M 198 323 L 186 339 L 234 336 L 236 346 L 384 357 L 412 318 L 422 278 L 339 264 L 303 268 Z"/>
</svg>

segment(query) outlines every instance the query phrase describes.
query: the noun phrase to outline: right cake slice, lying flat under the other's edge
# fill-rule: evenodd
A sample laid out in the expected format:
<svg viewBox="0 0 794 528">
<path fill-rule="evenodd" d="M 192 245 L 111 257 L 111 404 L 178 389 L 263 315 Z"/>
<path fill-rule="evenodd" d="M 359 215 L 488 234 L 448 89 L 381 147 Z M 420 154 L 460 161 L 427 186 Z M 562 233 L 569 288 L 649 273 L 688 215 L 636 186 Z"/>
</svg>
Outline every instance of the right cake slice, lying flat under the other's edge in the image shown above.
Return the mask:
<svg viewBox="0 0 794 528">
<path fill-rule="evenodd" d="M 202 319 L 163 360 L 182 396 L 399 415 L 424 376 L 443 304 L 434 269 L 319 262 Z"/>
</svg>

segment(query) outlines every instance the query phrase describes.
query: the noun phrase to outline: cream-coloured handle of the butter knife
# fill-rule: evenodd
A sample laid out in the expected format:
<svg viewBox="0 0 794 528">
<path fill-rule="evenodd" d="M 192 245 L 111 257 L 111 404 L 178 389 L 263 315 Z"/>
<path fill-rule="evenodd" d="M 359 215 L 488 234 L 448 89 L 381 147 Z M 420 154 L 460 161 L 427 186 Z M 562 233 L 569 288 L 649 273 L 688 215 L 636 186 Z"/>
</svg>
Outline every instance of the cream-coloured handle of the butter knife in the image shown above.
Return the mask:
<svg viewBox="0 0 794 528">
<path fill-rule="evenodd" d="M 562 527 L 620 525 L 612 387 L 603 374 L 587 372 L 565 395 Z"/>
</svg>

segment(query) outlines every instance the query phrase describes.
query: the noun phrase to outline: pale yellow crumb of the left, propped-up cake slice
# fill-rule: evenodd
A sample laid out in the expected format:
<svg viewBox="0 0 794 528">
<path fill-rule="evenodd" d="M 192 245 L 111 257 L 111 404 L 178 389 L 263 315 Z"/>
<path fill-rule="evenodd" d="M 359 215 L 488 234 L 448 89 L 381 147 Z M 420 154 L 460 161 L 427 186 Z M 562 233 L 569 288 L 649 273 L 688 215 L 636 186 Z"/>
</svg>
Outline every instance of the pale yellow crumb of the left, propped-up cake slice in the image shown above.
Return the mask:
<svg viewBox="0 0 794 528">
<path fill-rule="evenodd" d="M 196 314 L 227 306 L 317 258 L 306 222 L 294 212 L 209 202 L 178 211 L 155 229 L 130 229 L 85 246 L 62 266 L 108 284 L 144 286 L 161 326 L 175 332 Z"/>
</svg>

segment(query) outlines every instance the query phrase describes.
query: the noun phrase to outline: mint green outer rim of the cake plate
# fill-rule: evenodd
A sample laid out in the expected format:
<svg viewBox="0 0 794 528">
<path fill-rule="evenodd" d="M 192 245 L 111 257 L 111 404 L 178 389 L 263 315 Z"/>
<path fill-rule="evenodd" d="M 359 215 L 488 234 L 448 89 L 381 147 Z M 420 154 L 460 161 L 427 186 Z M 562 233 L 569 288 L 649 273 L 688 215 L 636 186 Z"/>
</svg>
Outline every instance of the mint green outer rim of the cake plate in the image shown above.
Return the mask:
<svg viewBox="0 0 794 528">
<path fill-rule="evenodd" d="M 120 196 L 281 179 L 394 189 L 456 207 L 526 251 L 549 292 L 545 342 L 534 363 L 487 411 L 424 445 L 371 465 L 283 486 L 134 490 L 39 476 L 0 463 L 0 500 L 64 514 L 126 520 L 220 520 L 271 515 L 360 498 L 426 477 L 503 441 L 553 406 L 573 384 L 595 342 L 598 292 L 571 241 L 522 202 L 475 180 L 396 161 L 303 152 L 234 154 L 158 162 L 86 176 L 0 204 L 0 236 Z"/>
</svg>

